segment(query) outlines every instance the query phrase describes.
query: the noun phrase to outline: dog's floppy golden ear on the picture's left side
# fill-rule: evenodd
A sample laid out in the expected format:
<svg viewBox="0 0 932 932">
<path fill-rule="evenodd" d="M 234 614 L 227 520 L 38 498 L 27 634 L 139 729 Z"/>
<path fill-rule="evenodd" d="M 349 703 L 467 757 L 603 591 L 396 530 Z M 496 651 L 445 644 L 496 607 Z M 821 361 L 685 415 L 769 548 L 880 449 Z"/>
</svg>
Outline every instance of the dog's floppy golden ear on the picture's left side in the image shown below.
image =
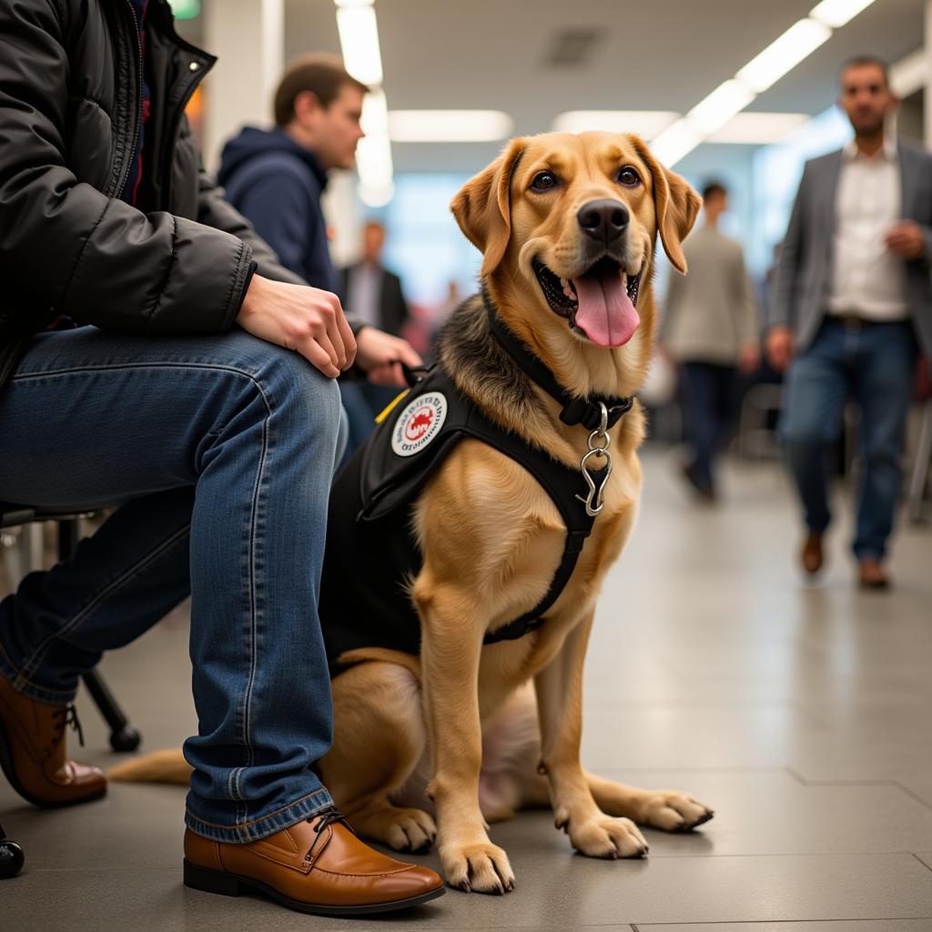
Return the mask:
<svg viewBox="0 0 932 932">
<path fill-rule="evenodd" d="M 471 178 L 450 202 L 459 228 L 483 254 L 483 278 L 495 271 L 512 234 L 512 173 L 527 141 L 513 139 L 484 171 Z"/>
</svg>

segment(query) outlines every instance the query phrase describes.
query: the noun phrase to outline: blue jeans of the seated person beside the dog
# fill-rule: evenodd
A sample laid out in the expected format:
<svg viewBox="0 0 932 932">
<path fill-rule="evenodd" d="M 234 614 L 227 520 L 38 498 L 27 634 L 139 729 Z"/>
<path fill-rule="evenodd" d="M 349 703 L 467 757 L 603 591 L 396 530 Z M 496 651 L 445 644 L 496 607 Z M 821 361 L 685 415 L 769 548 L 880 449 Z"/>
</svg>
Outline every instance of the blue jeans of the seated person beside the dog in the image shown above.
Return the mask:
<svg viewBox="0 0 932 932">
<path fill-rule="evenodd" d="M 0 602 L 0 672 L 67 703 L 190 593 L 185 822 L 220 842 L 332 804 L 313 766 L 332 734 L 317 601 L 340 425 L 335 382 L 240 330 L 43 334 L 0 391 L 0 497 L 126 502 Z"/>
</svg>

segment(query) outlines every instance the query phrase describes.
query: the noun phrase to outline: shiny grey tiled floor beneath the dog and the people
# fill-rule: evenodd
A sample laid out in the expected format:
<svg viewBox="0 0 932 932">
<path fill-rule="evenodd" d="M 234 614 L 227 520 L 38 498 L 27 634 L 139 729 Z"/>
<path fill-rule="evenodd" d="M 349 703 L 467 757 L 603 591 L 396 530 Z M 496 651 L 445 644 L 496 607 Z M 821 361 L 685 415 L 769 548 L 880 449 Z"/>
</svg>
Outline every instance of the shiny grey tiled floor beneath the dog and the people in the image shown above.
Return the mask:
<svg viewBox="0 0 932 932">
<path fill-rule="evenodd" d="M 2 785 L 0 821 L 28 865 L 0 882 L 0 929 L 932 932 L 932 529 L 904 527 L 895 590 L 864 594 L 843 519 L 826 578 L 807 585 L 778 468 L 733 464 L 708 509 L 678 486 L 672 454 L 644 459 L 639 524 L 590 650 L 584 760 L 690 790 L 716 810 L 703 829 L 648 831 L 649 860 L 603 862 L 526 814 L 493 829 L 513 894 L 450 891 L 350 923 L 185 890 L 180 788 L 116 785 L 103 802 L 45 813 Z M 185 630 L 182 610 L 103 663 L 146 748 L 194 726 Z M 87 697 L 79 707 L 85 758 L 115 761 Z"/>
</svg>

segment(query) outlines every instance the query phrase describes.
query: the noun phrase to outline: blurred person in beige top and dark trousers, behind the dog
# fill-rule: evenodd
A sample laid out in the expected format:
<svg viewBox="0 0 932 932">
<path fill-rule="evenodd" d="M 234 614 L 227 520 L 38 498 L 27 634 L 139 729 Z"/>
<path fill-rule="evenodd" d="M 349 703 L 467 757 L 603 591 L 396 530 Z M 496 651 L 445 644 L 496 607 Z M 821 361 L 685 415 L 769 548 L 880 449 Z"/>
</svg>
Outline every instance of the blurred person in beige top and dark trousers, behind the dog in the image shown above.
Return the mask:
<svg viewBox="0 0 932 932">
<path fill-rule="evenodd" d="M 719 228 L 728 191 L 703 191 L 706 223 L 683 243 L 688 275 L 670 273 L 660 341 L 678 363 L 692 459 L 683 475 L 706 501 L 716 497 L 714 460 L 733 415 L 735 370 L 761 362 L 760 323 L 744 252 Z"/>
</svg>

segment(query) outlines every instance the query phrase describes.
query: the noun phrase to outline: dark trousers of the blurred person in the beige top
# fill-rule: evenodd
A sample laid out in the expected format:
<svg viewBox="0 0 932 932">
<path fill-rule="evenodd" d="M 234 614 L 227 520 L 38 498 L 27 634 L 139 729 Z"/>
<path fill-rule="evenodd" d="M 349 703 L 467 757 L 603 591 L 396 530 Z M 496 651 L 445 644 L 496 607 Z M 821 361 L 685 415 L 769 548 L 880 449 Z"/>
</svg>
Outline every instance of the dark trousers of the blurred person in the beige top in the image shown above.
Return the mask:
<svg viewBox="0 0 932 932">
<path fill-rule="evenodd" d="M 696 479 L 715 487 L 714 461 L 732 418 L 734 366 L 683 363 L 682 397 Z"/>
</svg>

